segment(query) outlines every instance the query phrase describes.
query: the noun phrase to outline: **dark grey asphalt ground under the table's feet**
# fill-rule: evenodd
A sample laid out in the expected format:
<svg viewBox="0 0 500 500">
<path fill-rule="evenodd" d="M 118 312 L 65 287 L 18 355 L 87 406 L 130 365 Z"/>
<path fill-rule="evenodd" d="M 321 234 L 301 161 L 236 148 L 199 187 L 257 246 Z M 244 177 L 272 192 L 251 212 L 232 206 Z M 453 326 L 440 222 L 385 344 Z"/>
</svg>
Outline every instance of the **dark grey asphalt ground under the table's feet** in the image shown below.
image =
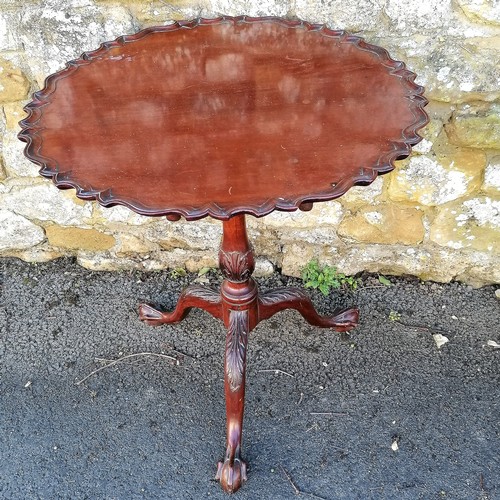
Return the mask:
<svg viewBox="0 0 500 500">
<path fill-rule="evenodd" d="M 0 498 L 227 498 L 224 328 L 199 310 L 158 328 L 137 314 L 195 278 L 0 259 Z M 350 335 L 294 311 L 252 332 L 235 498 L 500 498 L 494 287 L 361 279 L 311 292 L 322 313 L 360 307 Z"/>
</svg>

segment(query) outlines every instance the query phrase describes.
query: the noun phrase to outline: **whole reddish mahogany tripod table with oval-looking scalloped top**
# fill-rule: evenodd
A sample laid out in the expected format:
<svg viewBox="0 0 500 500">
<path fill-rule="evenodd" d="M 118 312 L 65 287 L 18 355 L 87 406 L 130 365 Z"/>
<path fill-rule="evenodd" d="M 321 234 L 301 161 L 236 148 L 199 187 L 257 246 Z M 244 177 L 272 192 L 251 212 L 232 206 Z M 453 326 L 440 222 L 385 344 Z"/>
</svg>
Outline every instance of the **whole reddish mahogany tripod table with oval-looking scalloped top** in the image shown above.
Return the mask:
<svg viewBox="0 0 500 500">
<path fill-rule="evenodd" d="M 223 221 L 220 290 L 198 285 L 173 312 L 199 307 L 227 327 L 227 449 L 217 478 L 246 479 L 241 458 L 247 340 L 292 308 L 347 331 L 357 309 L 319 316 L 299 288 L 259 293 L 245 214 L 310 210 L 369 184 L 408 156 L 427 123 L 423 88 L 402 62 L 361 38 L 278 18 L 221 17 L 103 43 L 51 75 L 26 106 L 26 156 L 60 188 L 149 216 Z"/>
</svg>

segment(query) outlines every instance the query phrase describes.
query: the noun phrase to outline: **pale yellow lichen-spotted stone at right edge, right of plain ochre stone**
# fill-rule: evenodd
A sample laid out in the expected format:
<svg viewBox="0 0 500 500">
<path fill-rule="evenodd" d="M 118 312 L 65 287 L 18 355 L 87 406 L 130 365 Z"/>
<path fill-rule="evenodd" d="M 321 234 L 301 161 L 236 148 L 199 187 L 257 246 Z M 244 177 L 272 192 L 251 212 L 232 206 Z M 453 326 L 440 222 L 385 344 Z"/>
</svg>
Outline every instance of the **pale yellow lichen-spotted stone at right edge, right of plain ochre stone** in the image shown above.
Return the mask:
<svg viewBox="0 0 500 500">
<path fill-rule="evenodd" d="M 500 200 L 470 198 L 442 207 L 431 224 L 438 245 L 500 254 Z"/>
</svg>

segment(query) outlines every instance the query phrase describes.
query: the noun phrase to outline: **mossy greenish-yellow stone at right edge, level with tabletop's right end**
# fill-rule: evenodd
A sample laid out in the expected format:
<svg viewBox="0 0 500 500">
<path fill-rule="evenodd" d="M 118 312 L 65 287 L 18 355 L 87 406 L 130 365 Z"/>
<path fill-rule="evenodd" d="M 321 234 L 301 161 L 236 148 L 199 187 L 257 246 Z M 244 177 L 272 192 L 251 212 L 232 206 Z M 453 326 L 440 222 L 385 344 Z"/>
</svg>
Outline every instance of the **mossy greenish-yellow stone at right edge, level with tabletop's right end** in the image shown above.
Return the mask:
<svg viewBox="0 0 500 500">
<path fill-rule="evenodd" d="M 457 146 L 500 149 L 500 104 L 466 104 L 453 113 L 445 130 Z"/>
</svg>

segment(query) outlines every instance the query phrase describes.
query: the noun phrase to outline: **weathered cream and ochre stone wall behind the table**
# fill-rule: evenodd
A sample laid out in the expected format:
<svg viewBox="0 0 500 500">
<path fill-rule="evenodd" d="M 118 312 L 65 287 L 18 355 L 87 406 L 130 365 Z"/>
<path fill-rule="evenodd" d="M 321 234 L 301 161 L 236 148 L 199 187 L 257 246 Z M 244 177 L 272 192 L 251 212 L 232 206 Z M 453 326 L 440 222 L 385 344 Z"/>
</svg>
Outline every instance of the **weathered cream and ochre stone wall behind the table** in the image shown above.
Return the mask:
<svg viewBox="0 0 500 500">
<path fill-rule="evenodd" d="M 424 140 L 369 188 L 308 213 L 249 217 L 258 270 L 311 258 L 362 270 L 500 282 L 500 3 L 496 0 L 0 0 L 0 256 L 75 255 L 94 269 L 216 265 L 220 223 L 104 209 L 37 175 L 16 138 L 44 78 L 102 41 L 220 14 L 299 17 L 386 47 L 430 100 Z"/>
</svg>

